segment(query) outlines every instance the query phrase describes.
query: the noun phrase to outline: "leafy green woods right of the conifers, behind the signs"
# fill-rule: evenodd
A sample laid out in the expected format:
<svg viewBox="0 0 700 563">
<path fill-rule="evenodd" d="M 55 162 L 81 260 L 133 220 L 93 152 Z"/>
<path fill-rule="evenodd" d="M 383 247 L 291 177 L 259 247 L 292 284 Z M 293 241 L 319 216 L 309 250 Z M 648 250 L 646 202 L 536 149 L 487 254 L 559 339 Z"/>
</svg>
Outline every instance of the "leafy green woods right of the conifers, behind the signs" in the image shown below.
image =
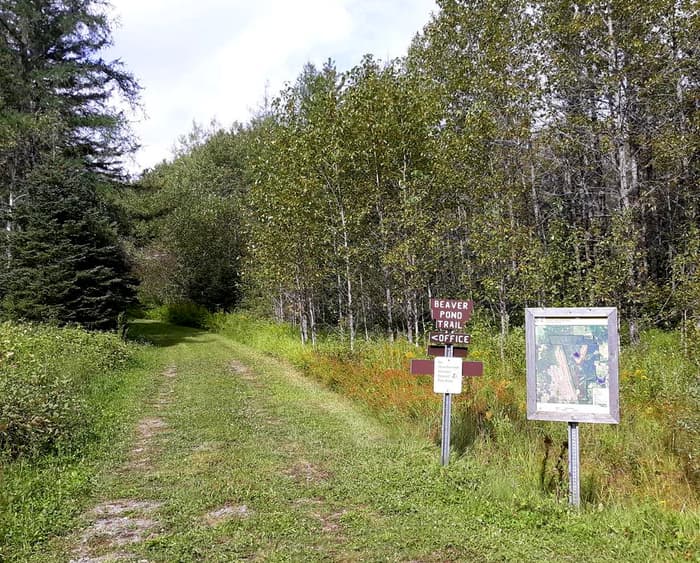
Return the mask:
<svg viewBox="0 0 700 563">
<path fill-rule="evenodd" d="M 195 127 L 130 205 L 141 296 L 242 304 L 352 347 L 430 297 L 698 321 L 694 2 L 440 2 L 401 60 L 307 65 L 247 125 Z"/>
</svg>

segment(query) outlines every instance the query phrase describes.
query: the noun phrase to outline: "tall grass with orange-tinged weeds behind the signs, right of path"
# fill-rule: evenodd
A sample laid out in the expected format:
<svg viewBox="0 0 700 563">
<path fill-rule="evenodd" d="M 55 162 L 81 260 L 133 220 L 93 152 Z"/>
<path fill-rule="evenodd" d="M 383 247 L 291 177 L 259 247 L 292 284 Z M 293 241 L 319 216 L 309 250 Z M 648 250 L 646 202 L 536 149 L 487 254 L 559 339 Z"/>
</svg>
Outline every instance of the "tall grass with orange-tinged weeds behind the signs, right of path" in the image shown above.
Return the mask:
<svg viewBox="0 0 700 563">
<path fill-rule="evenodd" d="M 244 314 L 216 315 L 212 326 L 229 337 L 292 361 L 307 375 L 371 408 L 440 434 L 440 400 L 429 377 L 408 373 L 423 348 L 404 340 L 360 342 L 354 352 L 337 336 L 302 346 L 288 326 Z M 526 420 L 525 342 L 508 336 L 501 359 L 498 335 L 471 330 L 469 355 L 484 363 L 484 377 L 455 396 L 452 445 L 456 454 L 488 464 L 503 495 L 514 491 L 568 492 L 564 423 Z M 692 347 L 688 349 L 692 350 Z M 620 365 L 621 423 L 581 427 L 581 494 L 588 505 L 651 502 L 677 510 L 700 501 L 700 366 L 680 335 L 650 331 L 626 346 Z"/>
</svg>

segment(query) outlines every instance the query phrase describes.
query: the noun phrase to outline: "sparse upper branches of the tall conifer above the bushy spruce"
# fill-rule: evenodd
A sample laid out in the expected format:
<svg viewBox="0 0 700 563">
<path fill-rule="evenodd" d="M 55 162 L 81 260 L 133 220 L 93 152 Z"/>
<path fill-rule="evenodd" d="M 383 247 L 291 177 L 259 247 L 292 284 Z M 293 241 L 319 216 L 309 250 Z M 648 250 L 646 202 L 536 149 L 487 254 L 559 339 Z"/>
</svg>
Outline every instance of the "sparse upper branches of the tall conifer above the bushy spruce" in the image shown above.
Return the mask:
<svg viewBox="0 0 700 563">
<path fill-rule="evenodd" d="M 111 42 L 104 4 L 8 0 L 0 6 L 0 23 L 0 75 L 7 78 L 0 81 L 0 115 L 25 124 L 46 117 L 53 122 L 44 138 L 25 136 L 25 126 L 17 130 L 8 176 L 21 178 L 46 150 L 91 169 L 118 170 L 115 157 L 132 143 L 125 115 L 110 102 L 134 104 L 139 87 L 120 62 L 100 56 Z"/>
</svg>

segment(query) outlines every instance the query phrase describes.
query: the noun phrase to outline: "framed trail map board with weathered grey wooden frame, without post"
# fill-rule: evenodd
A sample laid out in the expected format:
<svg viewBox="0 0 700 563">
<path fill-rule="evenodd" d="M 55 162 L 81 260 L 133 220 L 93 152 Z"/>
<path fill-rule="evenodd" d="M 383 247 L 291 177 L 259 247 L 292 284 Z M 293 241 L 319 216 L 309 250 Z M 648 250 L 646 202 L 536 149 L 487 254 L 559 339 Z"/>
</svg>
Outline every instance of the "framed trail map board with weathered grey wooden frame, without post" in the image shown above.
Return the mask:
<svg viewBox="0 0 700 563">
<path fill-rule="evenodd" d="M 614 308 L 526 309 L 527 417 L 619 422 Z"/>
</svg>

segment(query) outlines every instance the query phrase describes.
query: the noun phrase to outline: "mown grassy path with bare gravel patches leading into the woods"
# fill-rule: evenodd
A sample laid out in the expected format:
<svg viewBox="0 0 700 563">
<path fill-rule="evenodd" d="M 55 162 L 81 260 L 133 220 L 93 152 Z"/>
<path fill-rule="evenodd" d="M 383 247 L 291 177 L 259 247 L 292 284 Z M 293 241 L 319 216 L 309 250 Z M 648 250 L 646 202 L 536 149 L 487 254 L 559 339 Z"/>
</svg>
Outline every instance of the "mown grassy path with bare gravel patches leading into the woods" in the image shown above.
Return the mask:
<svg viewBox="0 0 700 563">
<path fill-rule="evenodd" d="M 415 425 L 387 424 L 245 344 L 136 329 L 154 345 L 128 432 L 70 525 L 6 560 L 700 560 L 697 512 L 570 510 L 474 455 L 441 467 Z"/>
</svg>

